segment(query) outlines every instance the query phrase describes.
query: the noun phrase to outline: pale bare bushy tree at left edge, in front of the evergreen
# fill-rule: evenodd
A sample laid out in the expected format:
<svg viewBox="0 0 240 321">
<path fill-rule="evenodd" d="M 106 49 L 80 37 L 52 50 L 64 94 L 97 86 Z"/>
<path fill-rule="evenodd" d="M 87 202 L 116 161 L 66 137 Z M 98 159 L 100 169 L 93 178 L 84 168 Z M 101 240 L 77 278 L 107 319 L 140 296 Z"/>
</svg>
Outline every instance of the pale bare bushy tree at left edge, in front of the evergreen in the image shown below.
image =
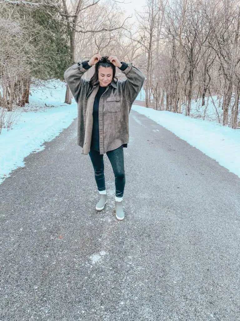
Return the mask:
<svg viewBox="0 0 240 321">
<path fill-rule="evenodd" d="M 34 48 L 23 25 L 11 19 L 0 19 L 0 106 L 12 110 L 13 101 L 24 106 L 28 100 L 29 74 Z M 26 53 L 26 47 L 28 52 Z"/>
</svg>

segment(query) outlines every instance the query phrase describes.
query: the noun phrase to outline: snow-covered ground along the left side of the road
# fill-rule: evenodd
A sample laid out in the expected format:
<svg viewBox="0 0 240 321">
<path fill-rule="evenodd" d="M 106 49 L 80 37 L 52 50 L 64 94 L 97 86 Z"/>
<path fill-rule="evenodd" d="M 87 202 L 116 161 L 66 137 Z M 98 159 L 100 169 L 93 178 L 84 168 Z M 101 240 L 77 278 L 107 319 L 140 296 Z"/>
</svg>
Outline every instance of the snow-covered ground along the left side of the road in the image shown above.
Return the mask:
<svg viewBox="0 0 240 321">
<path fill-rule="evenodd" d="M 0 134 L 0 184 L 10 172 L 25 166 L 24 158 L 44 149 L 77 117 L 77 105 L 64 104 L 66 84 L 51 81 L 47 87 L 31 90 L 30 104 L 17 109 L 17 124 Z M 45 104 L 47 106 L 45 106 Z"/>
</svg>

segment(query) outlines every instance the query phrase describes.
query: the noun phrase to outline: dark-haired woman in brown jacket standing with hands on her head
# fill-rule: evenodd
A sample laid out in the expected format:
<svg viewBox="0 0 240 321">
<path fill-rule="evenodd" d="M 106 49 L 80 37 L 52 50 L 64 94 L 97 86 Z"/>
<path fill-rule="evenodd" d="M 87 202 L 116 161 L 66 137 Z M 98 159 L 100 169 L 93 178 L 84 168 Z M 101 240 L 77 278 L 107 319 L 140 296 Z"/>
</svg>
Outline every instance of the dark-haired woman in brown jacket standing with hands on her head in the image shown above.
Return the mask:
<svg viewBox="0 0 240 321">
<path fill-rule="evenodd" d="M 95 72 L 90 81 L 83 79 L 93 65 Z M 117 80 L 116 67 L 126 75 L 125 80 Z M 116 56 L 96 54 L 88 61 L 78 60 L 66 70 L 64 78 L 78 105 L 77 144 L 83 148 L 83 154 L 89 154 L 95 173 L 100 194 L 96 210 L 101 211 L 107 203 L 103 163 L 106 153 L 115 175 L 116 218 L 121 221 L 125 186 L 123 147 L 129 142 L 129 112 L 145 76 Z"/>
</svg>

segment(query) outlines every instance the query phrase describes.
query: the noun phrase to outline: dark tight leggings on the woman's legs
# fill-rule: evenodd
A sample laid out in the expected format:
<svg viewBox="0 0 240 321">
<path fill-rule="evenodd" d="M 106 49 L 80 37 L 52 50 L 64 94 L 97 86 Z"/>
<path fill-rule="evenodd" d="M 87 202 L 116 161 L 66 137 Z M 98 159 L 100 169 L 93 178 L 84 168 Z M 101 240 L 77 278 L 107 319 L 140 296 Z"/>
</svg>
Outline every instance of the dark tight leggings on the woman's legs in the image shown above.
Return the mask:
<svg viewBox="0 0 240 321">
<path fill-rule="evenodd" d="M 104 191 L 106 187 L 104 177 L 103 155 L 100 155 L 100 153 L 97 151 L 91 150 L 89 152 L 89 156 L 92 160 L 98 190 Z M 107 156 L 110 160 L 115 176 L 116 196 L 123 197 L 125 186 L 123 147 L 119 147 L 117 149 L 114 149 L 113 151 L 107 152 Z"/>
</svg>

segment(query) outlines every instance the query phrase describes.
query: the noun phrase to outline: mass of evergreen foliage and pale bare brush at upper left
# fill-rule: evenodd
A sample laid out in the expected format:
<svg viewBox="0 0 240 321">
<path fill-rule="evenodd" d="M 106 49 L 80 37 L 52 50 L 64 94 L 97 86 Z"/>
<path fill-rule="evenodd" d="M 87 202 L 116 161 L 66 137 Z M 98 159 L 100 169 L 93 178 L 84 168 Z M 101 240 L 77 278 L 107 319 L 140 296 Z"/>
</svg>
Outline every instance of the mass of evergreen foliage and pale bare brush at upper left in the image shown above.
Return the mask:
<svg viewBox="0 0 240 321">
<path fill-rule="evenodd" d="M 11 45 L 3 37 L 0 39 L 1 52 L 4 53 L 0 57 L 0 77 L 2 88 L 6 88 L 3 96 L 0 93 L 0 104 L 8 110 L 12 109 L 13 102 L 19 106 L 28 102 L 33 81 L 63 80 L 64 71 L 72 64 L 69 31 L 65 18 L 59 14 L 60 4 L 37 0 L 31 5 L 30 1 L 18 5 L 1 4 L 2 33 L 11 34 L 7 37 Z M 6 28 L 4 21 L 7 21 Z"/>
</svg>

